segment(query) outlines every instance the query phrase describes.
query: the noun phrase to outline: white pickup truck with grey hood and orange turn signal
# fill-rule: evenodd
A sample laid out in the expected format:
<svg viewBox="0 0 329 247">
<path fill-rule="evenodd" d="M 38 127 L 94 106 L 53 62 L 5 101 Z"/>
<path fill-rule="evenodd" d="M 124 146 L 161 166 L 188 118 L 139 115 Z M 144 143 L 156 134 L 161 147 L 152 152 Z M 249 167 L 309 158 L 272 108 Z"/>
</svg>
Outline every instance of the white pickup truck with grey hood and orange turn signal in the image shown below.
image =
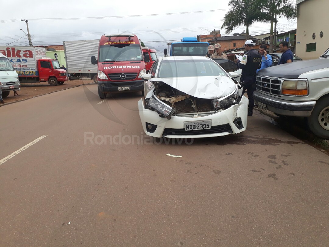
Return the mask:
<svg viewBox="0 0 329 247">
<path fill-rule="evenodd" d="M 307 117 L 312 132 L 329 139 L 329 49 L 318 59 L 260 70 L 256 89 L 258 108 Z"/>
</svg>

